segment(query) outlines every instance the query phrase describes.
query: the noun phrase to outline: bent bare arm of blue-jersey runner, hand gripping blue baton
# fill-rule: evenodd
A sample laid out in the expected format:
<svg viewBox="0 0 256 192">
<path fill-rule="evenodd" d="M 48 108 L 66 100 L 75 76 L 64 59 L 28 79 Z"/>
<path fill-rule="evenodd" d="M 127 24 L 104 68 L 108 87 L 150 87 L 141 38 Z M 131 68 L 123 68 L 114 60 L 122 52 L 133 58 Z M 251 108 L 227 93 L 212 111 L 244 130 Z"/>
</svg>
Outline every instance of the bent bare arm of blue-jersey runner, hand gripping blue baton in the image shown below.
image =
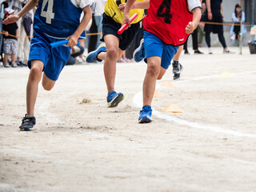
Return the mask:
<svg viewBox="0 0 256 192">
<path fill-rule="evenodd" d="M 90 18 L 92 16 L 90 6 L 86 6 L 86 8 L 83 9 L 84 16 L 82 18 L 82 21 L 80 22 L 80 25 L 78 26 L 78 29 L 74 31 L 74 34 L 72 34 L 70 37 L 66 38 L 69 40 L 69 42 L 66 44 L 67 46 L 75 46 L 78 43 L 78 38 L 82 34 L 84 30 L 86 30 L 86 26 L 90 22 Z"/>
</svg>

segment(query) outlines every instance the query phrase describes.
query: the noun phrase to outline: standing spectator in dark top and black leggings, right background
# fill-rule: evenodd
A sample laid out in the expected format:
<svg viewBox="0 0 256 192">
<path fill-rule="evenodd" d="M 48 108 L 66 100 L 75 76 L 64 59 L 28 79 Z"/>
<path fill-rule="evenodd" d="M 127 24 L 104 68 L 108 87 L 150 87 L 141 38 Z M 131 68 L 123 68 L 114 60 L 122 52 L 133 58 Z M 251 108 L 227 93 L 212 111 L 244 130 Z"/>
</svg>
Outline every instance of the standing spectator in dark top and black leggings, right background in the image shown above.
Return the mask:
<svg viewBox="0 0 256 192">
<path fill-rule="evenodd" d="M 222 7 L 222 0 L 206 0 L 206 22 L 223 22 L 223 7 Z M 206 32 L 206 44 L 209 48 L 209 54 L 213 54 L 212 48 L 210 46 L 210 33 L 213 32 L 214 34 L 218 34 L 218 40 L 221 42 L 223 46 L 223 53 L 229 54 L 230 50 L 226 46 L 226 41 L 223 35 L 223 25 L 213 25 L 213 24 L 206 24 L 205 25 L 205 32 Z"/>
</svg>

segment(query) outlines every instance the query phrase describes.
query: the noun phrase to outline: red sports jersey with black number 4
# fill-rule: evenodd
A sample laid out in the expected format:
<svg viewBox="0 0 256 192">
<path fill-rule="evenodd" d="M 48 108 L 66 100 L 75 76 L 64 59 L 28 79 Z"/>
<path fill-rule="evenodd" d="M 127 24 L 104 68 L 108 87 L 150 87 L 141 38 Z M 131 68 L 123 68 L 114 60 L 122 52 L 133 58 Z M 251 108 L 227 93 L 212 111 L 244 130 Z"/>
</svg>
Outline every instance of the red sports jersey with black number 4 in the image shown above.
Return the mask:
<svg viewBox="0 0 256 192">
<path fill-rule="evenodd" d="M 155 34 L 168 45 L 186 42 L 186 26 L 192 22 L 187 0 L 150 0 L 150 8 L 143 18 L 144 30 Z"/>
</svg>

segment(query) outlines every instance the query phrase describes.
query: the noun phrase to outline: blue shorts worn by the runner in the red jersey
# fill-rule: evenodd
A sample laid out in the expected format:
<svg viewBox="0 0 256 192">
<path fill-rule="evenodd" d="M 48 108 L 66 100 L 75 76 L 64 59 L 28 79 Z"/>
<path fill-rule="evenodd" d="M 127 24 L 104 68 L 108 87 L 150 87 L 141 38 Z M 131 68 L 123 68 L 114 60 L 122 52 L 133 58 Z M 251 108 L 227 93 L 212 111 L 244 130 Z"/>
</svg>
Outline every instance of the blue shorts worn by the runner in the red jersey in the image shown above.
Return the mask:
<svg viewBox="0 0 256 192">
<path fill-rule="evenodd" d="M 155 34 L 151 34 L 144 30 L 144 49 L 145 62 L 146 58 L 159 57 L 161 58 L 162 68 L 167 70 L 174 54 L 177 53 L 178 46 L 167 45 Z"/>
</svg>

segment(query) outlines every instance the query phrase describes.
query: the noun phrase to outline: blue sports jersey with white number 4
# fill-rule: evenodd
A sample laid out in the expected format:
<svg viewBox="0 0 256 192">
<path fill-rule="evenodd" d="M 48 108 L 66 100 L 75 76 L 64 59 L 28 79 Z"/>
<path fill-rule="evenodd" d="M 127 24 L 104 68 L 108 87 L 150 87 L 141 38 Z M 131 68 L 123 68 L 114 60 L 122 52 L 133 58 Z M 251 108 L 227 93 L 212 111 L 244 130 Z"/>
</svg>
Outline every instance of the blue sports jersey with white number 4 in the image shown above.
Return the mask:
<svg viewBox="0 0 256 192">
<path fill-rule="evenodd" d="M 80 24 L 82 9 L 90 6 L 88 0 L 82 1 L 39 0 L 34 14 L 34 30 L 52 38 L 67 38 L 74 34 Z M 74 5 L 74 2 L 79 2 L 80 5 Z"/>
</svg>

